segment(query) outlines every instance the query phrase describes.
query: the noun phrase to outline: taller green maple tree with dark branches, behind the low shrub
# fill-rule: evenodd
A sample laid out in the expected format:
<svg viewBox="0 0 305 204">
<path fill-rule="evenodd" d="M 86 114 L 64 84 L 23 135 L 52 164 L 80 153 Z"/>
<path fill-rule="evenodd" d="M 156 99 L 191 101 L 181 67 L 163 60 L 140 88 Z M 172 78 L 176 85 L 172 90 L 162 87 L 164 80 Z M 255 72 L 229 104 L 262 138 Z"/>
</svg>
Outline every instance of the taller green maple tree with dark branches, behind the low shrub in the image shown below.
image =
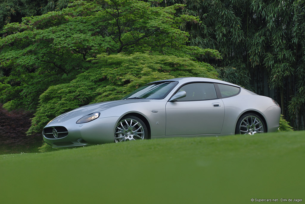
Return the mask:
<svg viewBox="0 0 305 204">
<path fill-rule="evenodd" d="M 189 35 L 178 25 L 196 23 L 197 18 L 175 16 L 183 8 L 150 7 L 137 0 L 79 0 L 62 10 L 5 25 L 0 39 L 0 102 L 7 109 L 35 110 L 43 91 L 70 82 L 100 53 L 221 59 L 216 50 L 185 45 Z"/>
</svg>

